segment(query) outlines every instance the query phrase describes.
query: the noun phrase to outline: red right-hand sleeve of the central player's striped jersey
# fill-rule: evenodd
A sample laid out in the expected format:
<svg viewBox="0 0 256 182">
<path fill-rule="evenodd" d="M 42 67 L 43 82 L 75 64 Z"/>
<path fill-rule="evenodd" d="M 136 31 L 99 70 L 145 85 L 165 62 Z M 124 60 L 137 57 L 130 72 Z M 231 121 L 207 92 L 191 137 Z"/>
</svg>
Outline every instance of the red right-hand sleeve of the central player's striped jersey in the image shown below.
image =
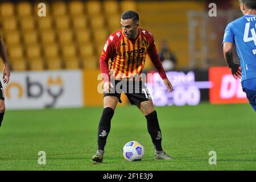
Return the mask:
<svg viewBox="0 0 256 182">
<path fill-rule="evenodd" d="M 150 60 L 152 61 L 152 64 L 154 65 L 154 67 L 158 71 L 160 77 L 164 80 L 164 79 L 167 78 L 166 72 L 164 71 L 162 62 L 160 60 L 160 57 L 158 55 L 158 51 L 157 51 L 156 46 L 155 46 L 154 37 L 152 36 L 151 33 L 150 33 L 148 39 L 149 39 L 149 42 L 150 42 L 150 46 L 147 48 L 147 54 L 150 57 Z"/>
</svg>

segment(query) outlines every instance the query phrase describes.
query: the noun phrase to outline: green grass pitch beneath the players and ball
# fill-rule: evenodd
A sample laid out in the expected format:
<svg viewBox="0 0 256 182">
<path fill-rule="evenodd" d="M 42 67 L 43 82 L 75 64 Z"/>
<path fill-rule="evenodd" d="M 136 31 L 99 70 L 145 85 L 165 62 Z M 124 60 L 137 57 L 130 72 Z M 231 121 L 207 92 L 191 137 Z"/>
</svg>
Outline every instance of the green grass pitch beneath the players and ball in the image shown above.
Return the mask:
<svg viewBox="0 0 256 182">
<path fill-rule="evenodd" d="M 135 106 L 118 107 L 103 164 L 93 165 L 101 107 L 7 110 L 0 128 L 0 170 L 255 170 L 256 115 L 249 104 L 156 107 L 163 148 L 174 160 L 154 159 L 146 119 Z M 141 162 L 126 162 L 122 147 L 138 140 Z M 46 165 L 38 152 L 46 152 Z M 210 165 L 209 151 L 217 152 Z"/>
</svg>

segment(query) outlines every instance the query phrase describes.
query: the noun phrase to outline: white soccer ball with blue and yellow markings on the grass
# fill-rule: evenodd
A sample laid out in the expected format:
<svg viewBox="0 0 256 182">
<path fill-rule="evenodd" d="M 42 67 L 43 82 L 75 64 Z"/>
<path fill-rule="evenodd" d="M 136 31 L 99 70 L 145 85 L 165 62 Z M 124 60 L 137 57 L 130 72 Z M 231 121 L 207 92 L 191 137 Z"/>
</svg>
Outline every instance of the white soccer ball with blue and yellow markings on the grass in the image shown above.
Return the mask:
<svg viewBox="0 0 256 182">
<path fill-rule="evenodd" d="M 145 150 L 141 143 L 130 141 L 123 146 L 123 158 L 127 161 L 139 161 L 143 158 Z"/>
</svg>

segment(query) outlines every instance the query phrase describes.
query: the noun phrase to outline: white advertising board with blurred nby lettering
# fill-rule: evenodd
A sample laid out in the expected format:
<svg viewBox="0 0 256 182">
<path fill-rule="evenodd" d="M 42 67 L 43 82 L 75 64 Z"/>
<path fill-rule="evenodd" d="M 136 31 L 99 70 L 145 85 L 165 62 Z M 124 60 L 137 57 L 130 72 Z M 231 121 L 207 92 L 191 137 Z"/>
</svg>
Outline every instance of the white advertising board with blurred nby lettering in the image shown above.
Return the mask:
<svg viewBox="0 0 256 182">
<path fill-rule="evenodd" d="M 81 71 L 12 72 L 3 84 L 8 109 L 81 107 Z"/>
</svg>

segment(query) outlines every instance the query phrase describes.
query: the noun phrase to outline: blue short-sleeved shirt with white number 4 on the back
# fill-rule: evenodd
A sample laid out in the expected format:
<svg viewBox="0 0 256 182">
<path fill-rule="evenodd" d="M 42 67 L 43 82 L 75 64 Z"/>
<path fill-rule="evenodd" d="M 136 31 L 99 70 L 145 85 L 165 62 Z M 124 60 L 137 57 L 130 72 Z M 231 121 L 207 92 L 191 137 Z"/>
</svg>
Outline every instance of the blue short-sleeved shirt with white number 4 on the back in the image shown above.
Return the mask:
<svg viewBox="0 0 256 182">
<path fill-rule="evenodd" d="M 229 23 L 224 42 L 236 45 L 241 64 L 241 81 L 256 78 L 256 15 L 247 14 Z"/>
</svg>

